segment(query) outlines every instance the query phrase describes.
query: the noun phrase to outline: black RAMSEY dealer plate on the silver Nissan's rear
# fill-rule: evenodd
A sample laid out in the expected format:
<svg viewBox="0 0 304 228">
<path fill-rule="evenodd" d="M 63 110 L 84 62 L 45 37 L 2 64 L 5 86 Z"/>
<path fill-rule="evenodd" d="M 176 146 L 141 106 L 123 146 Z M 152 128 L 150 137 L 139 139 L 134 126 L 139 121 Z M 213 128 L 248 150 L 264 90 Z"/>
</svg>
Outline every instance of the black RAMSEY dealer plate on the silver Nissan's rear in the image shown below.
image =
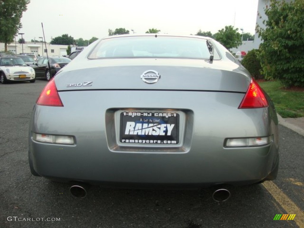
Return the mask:
<svg viewBox="0 0 304 228">
<path fill-rule="evenodd" d="M 122 112 L 120 142 L 178 144 L 179 114 L 175 112 Z"/>
</svg>

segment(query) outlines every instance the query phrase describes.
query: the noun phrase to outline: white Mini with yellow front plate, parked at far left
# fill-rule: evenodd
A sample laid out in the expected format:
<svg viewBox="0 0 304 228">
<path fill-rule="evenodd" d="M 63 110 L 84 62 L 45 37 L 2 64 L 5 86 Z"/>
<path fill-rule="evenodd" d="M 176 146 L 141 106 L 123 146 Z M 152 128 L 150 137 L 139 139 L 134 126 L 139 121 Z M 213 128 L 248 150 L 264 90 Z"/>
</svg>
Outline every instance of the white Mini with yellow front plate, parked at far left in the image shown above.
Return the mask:
<svg viewBox="0 0 304 228">
<path fill-rule="evenodd" d="M 0 57 L 0 82 L 5 84 L 9 81 L 35 82 L 35 71 L 21 58 Z"/>
</svg>

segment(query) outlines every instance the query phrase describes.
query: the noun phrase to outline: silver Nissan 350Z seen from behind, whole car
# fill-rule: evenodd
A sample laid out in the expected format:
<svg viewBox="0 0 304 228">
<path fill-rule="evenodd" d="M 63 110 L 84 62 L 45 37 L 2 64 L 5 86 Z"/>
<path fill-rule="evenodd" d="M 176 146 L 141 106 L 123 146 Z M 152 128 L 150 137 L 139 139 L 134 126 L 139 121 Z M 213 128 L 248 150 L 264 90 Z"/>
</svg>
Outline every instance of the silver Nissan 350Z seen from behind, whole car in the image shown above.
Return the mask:
<svg viewBox="0 0 304 228">
<path fill-rule="evenodd" d="M 202 36 L 110 36 L 41 92 L 32 174 L 119 186 L 250 185 L 278 172 L 278 119 L 250 73 Z"/>
</svg>

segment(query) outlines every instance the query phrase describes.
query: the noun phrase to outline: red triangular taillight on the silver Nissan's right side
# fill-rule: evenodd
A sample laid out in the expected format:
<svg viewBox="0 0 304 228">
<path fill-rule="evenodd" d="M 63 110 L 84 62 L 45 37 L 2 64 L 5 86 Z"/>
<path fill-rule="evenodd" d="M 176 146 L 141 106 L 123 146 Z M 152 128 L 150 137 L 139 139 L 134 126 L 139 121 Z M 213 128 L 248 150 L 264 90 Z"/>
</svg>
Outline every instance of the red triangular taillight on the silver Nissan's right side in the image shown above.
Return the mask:
<svg viewBox="0 0 304 228">
<path fill-rule="evenodd" d="M 254 79 L 251 79 L 249 88 L 239 106 L 239 109 L 254 109 L 268 107 L 268 101 Z"/>
</svg>

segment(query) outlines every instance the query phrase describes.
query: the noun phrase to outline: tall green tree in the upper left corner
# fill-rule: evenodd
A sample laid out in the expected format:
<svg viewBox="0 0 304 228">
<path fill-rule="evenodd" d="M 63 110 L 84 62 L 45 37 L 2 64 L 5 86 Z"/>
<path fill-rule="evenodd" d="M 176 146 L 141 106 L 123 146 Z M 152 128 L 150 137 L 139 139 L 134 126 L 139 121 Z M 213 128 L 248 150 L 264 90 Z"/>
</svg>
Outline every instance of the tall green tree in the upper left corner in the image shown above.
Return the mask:
<svg viewBox="0 0 304 228">
<path fill-rule="evenodd" d="M 22 28 L 20 20 L 27 4 L 29 0 L 0 0 L 0 42 L 4 43 L 5 52 L 7 44 L 13 42 L 14 36 Z"/>
</svg>

